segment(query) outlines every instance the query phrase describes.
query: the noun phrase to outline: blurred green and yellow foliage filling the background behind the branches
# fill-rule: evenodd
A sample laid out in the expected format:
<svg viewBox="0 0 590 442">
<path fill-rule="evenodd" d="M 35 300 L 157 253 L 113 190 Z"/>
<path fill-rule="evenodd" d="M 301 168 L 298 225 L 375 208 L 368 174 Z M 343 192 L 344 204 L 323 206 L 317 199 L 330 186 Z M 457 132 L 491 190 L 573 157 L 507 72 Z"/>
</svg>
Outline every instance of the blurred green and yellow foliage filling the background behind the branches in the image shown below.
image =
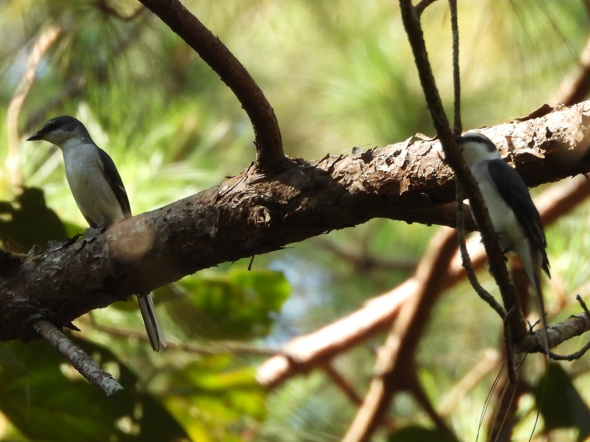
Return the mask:
<svg viewBox="0 0 590 442">
<path fill-rule="evenodd" d="M 395 2 L 183 4 L 260 84 L 277 113 L 289 156 L 318 159 L 326 153 L 349 153 L 354 146 L 394 143 L 416 132 L 434 134 Z M 44 203 L 36 199 L 35 207 L 46 207 L 48 216 L 57 213 L 67 235 L 86 225 L 65 182 L 60 151 L 24 141 L 50 117 L 71 114 L 84 121 L 117 164 L 135 213 L 217 184 L 253 161 L 253 131 L 235 97 L 178 36 L 138 8 L 132 0 L 0 3 L 1 121 L 6 121 L 35 41 L 50 24 L 62 27 L 38 66 L 19 116 L 22 137 L 17 147 L 24 182 L 12 180 L 15 166 L 6 161 L 9 149 L 0 149 L 5 164 L 0 169 L 4 244 L 26 236 L 22 249 L 31 243 L 44 246 L 47 239 L 61 239 L 64 228 L 55 225 L 38 235 L 38 227 L 18 222 L 11 230 L 6 223 L 19 219 L 23 207 L 20 184 L 43 190 Z M 472 1 L 460 2 L 459 24 L 463 124 L 471 128 L 523 116 L 551 102 L 563 78 L 577 66 L 589 19 L 582 1 Z M 447 4 L 429 6 L 422 25 L 450 109 Z M 0 139 L 6 137 L 6 125 L 0 124 Z M 581 206 L 548 229 L 555 292 L 589 293 L 587 226 L 588 207 Z M 81 318 L 76 323 L 83 329 L 83 347 L 92 348 L 102 361 L 112 361 L 120 373 L 127 399 L 119 402 L 65 377 L 67 366 L 42 342 L 0 344 L 0 438 L 68 440 L 71 435 L 63 431 L 76 428 L 83 432 L 78 436 L 88 435 L 77 440 L 137 439 L 134 428 L 149 432 L 156 423 L 165 423 L 163 431 L 169 433 L 158 438 L 157 433 L 139 433 L 149 434 L 141 440 L 169 440 L 180 434 L 179 427 L 199 441 L 339 440 L 356 405 L 320 372 L 294 378 L 266 397 L 253 376 L 253 367 L 264 358 L 257 350 L 277 348 L 313 331 L 403 281 L 435 229 L 372 220 L 257 256 L 251 272 L 245 270 L 248 261 L 241 260 L 160 289 L 156 306 L 172 345 L 157 355 L 136 337 L 143 329 L 130 303 Z M 493 292 L 489 280 L 484 284 Z M 550 312 L 565 304 L 552 319 L 578 311 L 569 298 L 564 302 L 552 292 L 546 290 Z M 436 404 L 478 362 L 482 348 L 497 345 L 501 324 L 461 284 L 441 299 L 429 325 L 418 362 Z M 226 345 L 225 339 L 241 341 L 241 351 L 232 351 L 235 345 Z M 568 346 L 574 349 L 580 342 Z M 376 337 L 335 361 L 361 394 L 372 375 L 373 349 L 380 343 Z M 585 373 L 588 364 L 582 359 L 571 368 Z M 535 369 L 542 373 L 542 366 L 533 365 L 533 373 Z M 491 380 L 493 375 L 465 395 L 449 421 L 462 440 L 475 438 Z M 589 380 L 581 376 L 578 381 L 588 403 L 583 391 L 590 390 L 583 387 Z M 83 401 L 91 405 L 85 408 Z M 51 420 L 46 419 L 49 404 Z M 143 416 L 149 419 L 137 417 L 134 404 L 143 404 Z M 521 407 L 526 413 L 533 405 Z M 403 395 L 392 413 L 401 426 L 430 424 Z M 523 420 L 520 425 L 525 440 L 531 423 Z M 420 437 L 423 430 L 407 431 Z M 376 440 L 387 437 L 381 431 Z M 395 437 L 399 440 L 399 434 L 391 440 Z"/>
</svg>

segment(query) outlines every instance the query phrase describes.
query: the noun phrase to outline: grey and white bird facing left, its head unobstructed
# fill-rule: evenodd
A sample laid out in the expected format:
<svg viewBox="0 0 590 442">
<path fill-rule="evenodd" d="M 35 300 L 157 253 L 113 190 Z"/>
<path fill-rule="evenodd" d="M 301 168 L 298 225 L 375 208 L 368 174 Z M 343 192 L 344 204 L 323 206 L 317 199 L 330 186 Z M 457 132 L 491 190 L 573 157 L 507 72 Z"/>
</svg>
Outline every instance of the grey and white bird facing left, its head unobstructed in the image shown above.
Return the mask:
<svg viewBox="0 0 590 442">
<path fill-rule="evenodd" d="M 65 176 L 76 204 L 90 227 L 104 229 L 131 216 L 123 180 L 113 160 L 97 146 L 83 123 L 71 116 L 51 118 L 27 141 L 45 140 L 61 149 Z M 152 293 L 137 295 L 150 345 L 166 347 Z"/>
</svg>

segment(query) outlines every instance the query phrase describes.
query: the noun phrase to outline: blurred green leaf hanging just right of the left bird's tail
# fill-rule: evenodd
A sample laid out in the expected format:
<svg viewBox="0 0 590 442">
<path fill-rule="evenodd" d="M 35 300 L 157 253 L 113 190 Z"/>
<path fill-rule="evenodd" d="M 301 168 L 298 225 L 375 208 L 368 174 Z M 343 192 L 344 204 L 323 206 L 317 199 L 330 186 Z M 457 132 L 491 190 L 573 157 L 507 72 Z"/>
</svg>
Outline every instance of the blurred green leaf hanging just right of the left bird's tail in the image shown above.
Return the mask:
<svg viewBox="0 0 590 442">
<path fill-rule="evenodd" d="M 183 296 L 166 308 L 187 337 L 208 339 L 266 336 L 291 290 L 280 272 L 241 269 L 184 278 L 177 286 Z"/>
</svg>

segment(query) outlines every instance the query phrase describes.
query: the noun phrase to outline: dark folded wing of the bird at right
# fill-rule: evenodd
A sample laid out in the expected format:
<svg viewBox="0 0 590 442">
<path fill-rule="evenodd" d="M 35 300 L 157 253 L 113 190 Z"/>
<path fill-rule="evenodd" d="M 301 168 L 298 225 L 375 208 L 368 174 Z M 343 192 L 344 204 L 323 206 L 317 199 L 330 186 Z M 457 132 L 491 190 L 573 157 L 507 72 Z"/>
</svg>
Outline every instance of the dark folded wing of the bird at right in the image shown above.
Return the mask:
<svg viewBox="0 0 590 442">
<path fill-rule="evenodd" d="M 514 212 L 516 219 L 525 230 L 533 248 L 539 250 L 543 256 L 543 270 L 549 274 L 547 259 L 547 240 L 539 211 L 530 197 L 529 189 L 519 173 L 512 169 L 504 160 L 490 160 L 488 162 L 490 178 L 498 192 Z"/>
</svg>

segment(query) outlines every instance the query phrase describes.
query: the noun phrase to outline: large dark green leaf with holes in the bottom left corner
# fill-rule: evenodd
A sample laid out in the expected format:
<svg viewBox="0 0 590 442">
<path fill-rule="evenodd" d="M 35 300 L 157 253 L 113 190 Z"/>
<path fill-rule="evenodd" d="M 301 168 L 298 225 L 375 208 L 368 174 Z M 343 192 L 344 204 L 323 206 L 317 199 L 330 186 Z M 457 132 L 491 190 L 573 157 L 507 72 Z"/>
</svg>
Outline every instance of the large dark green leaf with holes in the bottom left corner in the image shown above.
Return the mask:
<svg viewBox="0 0 590 442">
<path fill-rule="evenodd" d="M 76 339 L 79 341 L 79 339 Z M 185 430 L 109 350 L 80 343 L 125 390 L 108 398 L 46 342 L 0 344 L 22 363 L 0 367 L 0 411 L 27 437 L 44 441 L 139 441 L 186 437 Z M 6 358 L 2 358 L 4 362 Z"/>
</svg>

